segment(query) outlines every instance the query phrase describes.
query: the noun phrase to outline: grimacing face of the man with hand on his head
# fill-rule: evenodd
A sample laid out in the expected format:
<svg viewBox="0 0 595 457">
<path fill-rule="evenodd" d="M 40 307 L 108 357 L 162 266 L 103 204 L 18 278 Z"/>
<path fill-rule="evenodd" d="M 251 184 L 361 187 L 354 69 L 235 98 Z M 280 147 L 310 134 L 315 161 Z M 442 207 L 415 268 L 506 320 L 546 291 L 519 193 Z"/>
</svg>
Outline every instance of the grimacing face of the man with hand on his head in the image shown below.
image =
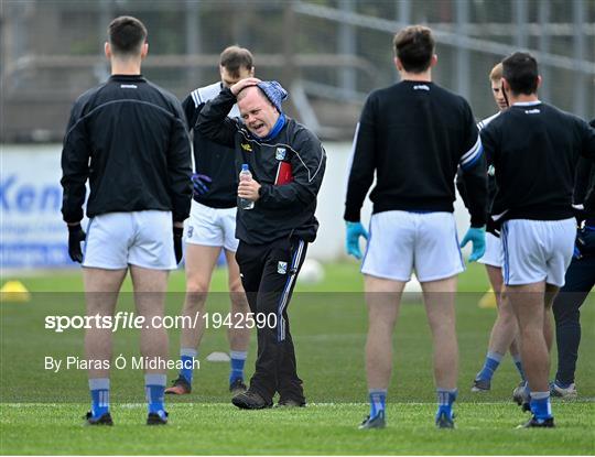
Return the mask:
<svg viewBox="0 0 595 457">
<path fill-rule="evenodd" d="M 238 108 L 248 130 L 257 137 L 267 137 L 279 119 L 279 111 L 262 91 L 247 87 L 238 95 Z"/>
</svg>

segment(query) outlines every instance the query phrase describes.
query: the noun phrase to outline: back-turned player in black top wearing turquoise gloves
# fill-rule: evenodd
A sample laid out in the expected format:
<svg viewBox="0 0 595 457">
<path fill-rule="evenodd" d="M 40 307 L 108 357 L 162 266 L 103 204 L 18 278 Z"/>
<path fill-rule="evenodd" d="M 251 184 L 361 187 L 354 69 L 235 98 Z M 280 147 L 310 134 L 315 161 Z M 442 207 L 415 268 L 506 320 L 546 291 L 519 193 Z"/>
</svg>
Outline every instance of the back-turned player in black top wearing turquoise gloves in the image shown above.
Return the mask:
<svg viewBox="0 0 595 457">
<path fill-rule="evenodd" d="M 345 220 L 347 251 L 359 257 L 360 208 L 374 181 L 370 240 L 363 262 L 369 328 L 366 370 L 370 414 L 360 428 L 383 427 L 392 368 L 392 331 L 400 298 L 415 269 L 433 335 L 439 427 L 453 427 L 458 350 L 455 331 L 457 274 L 464 270 L 453 202 L 458 166 L 467 175 L 473 241 L 470 259 L 485 249 L 487 173 L 468 104 L 432 83 L 437 62 L 430 29 L 413 25 L 394 37 L 402 81 L 374 91 L 357 127 Z"/>
</svg>

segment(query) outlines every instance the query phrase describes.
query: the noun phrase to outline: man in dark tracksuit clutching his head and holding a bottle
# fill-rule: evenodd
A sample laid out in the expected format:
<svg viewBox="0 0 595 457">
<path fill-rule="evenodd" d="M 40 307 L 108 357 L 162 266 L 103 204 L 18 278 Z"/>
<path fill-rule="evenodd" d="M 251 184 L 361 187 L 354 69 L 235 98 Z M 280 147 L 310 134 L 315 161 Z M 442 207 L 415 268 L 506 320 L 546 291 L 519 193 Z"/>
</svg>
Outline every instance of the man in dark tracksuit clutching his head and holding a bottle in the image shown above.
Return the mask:
<svg viewBox="0 0 595 457">
<path fill-rule="evenodd" d="M 248 164 L 253 177 L 238 187 L 238 196 L 255 202 L 255 207 L 238 208 L 236 260 L 255 319 L 267 322 L 257 326 L 258 359 L 250 388 L 232 399 L 236 406 L 249 410 L 270 407 L 275 392 L 280 405 L 305 405 L 288 305 L 307 243 L 316 238 L 314 210 L 326 153 L 312 132 L 285 117 L 284 98 L 278 83 L 247 78 L 208 101 L 196 123 L 205 137 L 235 148 L 237 172 Z M 241 120 L 227 117 L 236 101 Z"/>
</svg>

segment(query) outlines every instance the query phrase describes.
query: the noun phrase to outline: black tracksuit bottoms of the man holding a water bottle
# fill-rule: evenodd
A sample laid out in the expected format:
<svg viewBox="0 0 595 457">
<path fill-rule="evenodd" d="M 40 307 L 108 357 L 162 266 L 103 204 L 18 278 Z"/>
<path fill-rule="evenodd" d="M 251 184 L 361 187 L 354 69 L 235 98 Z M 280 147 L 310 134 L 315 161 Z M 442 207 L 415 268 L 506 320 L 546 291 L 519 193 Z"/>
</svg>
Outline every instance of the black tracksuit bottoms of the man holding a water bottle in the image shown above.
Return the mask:
<svg viewBox="0 0 595 457">
<path fill-rule="evenodd" d="M 258 315 L 267 316 L 266 325 L 257 325 L 258 356 L 250 390 L 268 402 L 279 392 L 280 401 L 305 403 L 302 380 L 298 378 L 288 306 L 306 249 L 307 243 L 301 239 L 283 238 L 269 244 L 248 244 L 240 240 L 236 252 L 255 320 L 258 324 Z"/>
</svg>

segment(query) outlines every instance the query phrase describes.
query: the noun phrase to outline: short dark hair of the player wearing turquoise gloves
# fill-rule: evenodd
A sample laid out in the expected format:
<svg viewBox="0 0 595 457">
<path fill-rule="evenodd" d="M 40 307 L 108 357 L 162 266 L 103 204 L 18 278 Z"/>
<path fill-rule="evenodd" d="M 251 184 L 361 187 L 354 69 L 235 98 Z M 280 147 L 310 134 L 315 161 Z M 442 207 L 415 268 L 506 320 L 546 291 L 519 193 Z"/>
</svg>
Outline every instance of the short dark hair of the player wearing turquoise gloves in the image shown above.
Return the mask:
<svg viewBox="0 0 595 457">
<path fill-rule="evenodd" d="M 436 42 L 432 31 L 423 25 L 409 25 L 392 40 L 394 55 L 407 72 L 423 73 L 432 62 Z"/>
</svg>

